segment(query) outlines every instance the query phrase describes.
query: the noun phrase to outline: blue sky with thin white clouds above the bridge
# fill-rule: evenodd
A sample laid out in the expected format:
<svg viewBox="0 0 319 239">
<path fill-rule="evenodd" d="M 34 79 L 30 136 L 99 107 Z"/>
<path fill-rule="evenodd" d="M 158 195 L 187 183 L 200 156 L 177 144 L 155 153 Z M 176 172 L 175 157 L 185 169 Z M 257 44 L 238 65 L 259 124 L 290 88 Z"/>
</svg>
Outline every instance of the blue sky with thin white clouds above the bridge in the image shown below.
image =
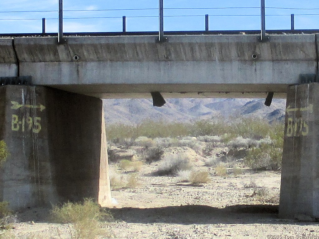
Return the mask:
<svg viewBox="0 0 319 239">
<path fill-rule="evenodd" d="M 158 0 L 64 0 L 64 10 L 103 10 L 158 8 Z M 265 0 L 266 7 L 317 8 L 318 0 Z M 164 8 L 214 8 L 259 7 L 259 0 L 164 0 Z M 57 18 L 58 0 L 1 0 L 0 33 L 40 33 L 42 18 Z M 8 12 L 8 11 L 54 11 L 54 12 Z M 259 16 L 213 16 L 258 15 L 260 9 L 165 9 L 164 31 L 192 31 L 205 29 L 205 14 L 209 14 L 209 30 L 258 30 Z M 290 29 L 290 14 L 295 14 L 295 29 L 319 29 L 319 10 L 266 9 L 266 30 Z M 298 15 L 318 14 L 318 15 Z M 120 32 L 122 16 L 127 16 L 127 31 L 157 31 L 158 10 L 134 11 L 65 11 L 64 18 L 107 17 L 98 19 L 64 19 L 64 32 Z M 171 17 L 199 15 L 188 17 Z M 143 17 L 141 17 L 143 16 Z M 145 17 L 150 16 L 150 17 Z M 113 18 L 118 17 L 118 18 Z M 137 18 L 139 17 L 139 18 Z M 37 18 L 38 20 L 3 20 Z M 46 32 L 57 32 L 57 20 L 47 19 Z"/>
</svg>

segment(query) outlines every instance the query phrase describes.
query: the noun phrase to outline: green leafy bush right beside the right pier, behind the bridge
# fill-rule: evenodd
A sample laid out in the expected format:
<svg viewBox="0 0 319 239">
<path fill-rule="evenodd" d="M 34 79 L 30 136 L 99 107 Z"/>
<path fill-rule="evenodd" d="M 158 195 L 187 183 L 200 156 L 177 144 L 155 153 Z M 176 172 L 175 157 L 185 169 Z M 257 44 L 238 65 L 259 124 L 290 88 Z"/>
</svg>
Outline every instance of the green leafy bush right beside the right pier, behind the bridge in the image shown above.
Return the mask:
<svg viewBox="0 0 319 239">
<path fill-rule="evenodd" d="M 281 167 L 282 148 L 261 144 L 251 148 L 244 158 L 245 164 L 253 170 L 278 170 Z"/>
</svg>

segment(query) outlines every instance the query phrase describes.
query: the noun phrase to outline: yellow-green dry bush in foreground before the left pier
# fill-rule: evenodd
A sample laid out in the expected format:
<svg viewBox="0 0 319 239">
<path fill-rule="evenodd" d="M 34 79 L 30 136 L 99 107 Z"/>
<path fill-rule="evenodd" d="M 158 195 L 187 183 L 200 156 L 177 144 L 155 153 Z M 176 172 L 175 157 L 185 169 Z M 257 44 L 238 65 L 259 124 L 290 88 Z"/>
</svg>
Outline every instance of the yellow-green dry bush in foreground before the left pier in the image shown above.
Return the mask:
<svg viewBox="0 0 319 239">
<path fill-rule="evenodd" d="M 56 223 L 67 223 L 73 239 L 94 239 L 101 234 L 100 220 L 111 219 L 111 214 L 100 210 L 92 199 L 83 203 L 67 202 L 62 207 L 53 206 L 52 219 Z"/>
</svg>

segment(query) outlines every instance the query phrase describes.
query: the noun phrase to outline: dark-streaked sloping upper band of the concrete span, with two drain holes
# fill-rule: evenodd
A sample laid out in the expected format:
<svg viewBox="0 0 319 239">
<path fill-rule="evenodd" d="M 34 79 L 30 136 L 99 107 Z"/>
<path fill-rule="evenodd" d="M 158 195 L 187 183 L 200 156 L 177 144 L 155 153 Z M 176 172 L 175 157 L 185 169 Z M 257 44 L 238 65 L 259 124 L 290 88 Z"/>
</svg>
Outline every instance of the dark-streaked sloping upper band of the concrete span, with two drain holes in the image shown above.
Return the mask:
<svg viewBox="0 0 319 239">
<path fill-rule="evenodd" d="M 258 42 L 257 35 L 15 38 L 19 62 L 148 62 L 148 61 L 315 61 L 315 35 L 272 35 Z M 253 55 L 256 55 L 256 58 Z"/>
</svg>

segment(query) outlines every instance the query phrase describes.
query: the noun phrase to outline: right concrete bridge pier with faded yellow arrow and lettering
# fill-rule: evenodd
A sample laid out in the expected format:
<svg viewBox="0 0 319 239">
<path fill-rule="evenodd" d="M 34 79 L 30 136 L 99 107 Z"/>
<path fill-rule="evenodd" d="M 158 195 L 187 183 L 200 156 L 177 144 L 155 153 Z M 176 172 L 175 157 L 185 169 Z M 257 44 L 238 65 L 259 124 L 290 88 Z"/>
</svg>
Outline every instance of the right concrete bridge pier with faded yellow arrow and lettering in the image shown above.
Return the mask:
<svg viewBox="0 0 319 239">
<path fill-rule="evenodd" d="M 318 92 L 319 83 L 288 88 L 279 205 L 283 218 L 319 218 Z"/>
</svg>

